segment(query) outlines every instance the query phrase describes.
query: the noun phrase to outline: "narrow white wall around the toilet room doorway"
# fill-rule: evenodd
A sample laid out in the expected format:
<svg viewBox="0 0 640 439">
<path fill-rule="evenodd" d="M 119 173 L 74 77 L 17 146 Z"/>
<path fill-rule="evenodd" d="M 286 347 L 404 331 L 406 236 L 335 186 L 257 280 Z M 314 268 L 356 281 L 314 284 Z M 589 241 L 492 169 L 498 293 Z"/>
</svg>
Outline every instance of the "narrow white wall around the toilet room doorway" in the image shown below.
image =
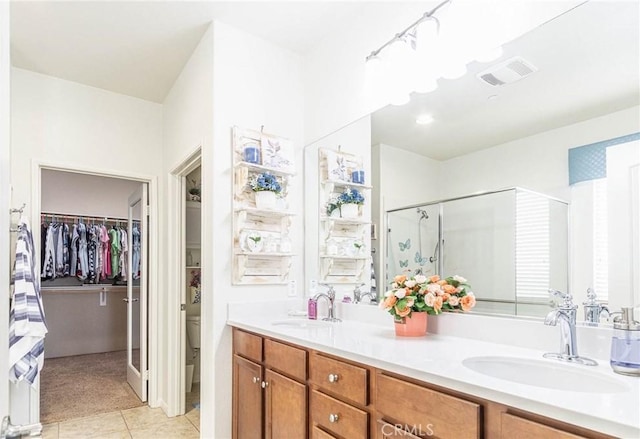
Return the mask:
<svg viewBox="0 0 640 439">
<path fill-rule="evenodd" d="M 179 343 L 176 344 L 175 335 L 184 330 L 185 322 L 177 317 L 180 309 L 181 293 L 185 285 L 181 283 L 178 271 L 182 267 L 179 255 L 183 251 L 181 247 L 181 222 L 180 212 L 184 194 L 181 191 L 178 168 L 188 157 L 195 154 L 199 148 L 202 153 L 202 242 L 211 243 L 212 222 L 207 209 L 211 208 L 214 197 L 212 163 L 213 163 L 213 27 L 202 36 L 198 46 L 182 69 L 171 90 L 163 102 L 163 179 L 162 186 L 167 194 L 167 210 L 165 212 L 165 226 L 161 229 L 162 243 L 161 253 L 164 255 L 161 285 L 161 304 L 159 320 L 165 322 L 159 331 L 160 338 L 168 340 L 166 345 L 160 346 L 160 361 L 158 373 L 164 378 L 158 389 L 162 399 L 167 405 L 164 409 L 170 416 L 180 412 L 178 401 L 182 395 L 179 368 L 183 358 L 180 355 L 171 356 L 171 352 L 180 352 Z M 201 362 L 207 358 L 207 363 L 212 364 L 213 340 L 211 334 L 213 327 L 213 272 L 209 269 L 213 260 L 213 246 L 203 245 L 201 252 L 201 281 L 202 281 L 202 348 L 200 351 Z M 171 269 L 169 269 L 171 267 Z M 188 281 L 188 277 L 187 277 Z M 210 369 L 208 369 L 210 370 Z M 213 398 L 213 377 L 204 376 L 201 392 L 201 408 L 203 413 L 209 412 Z M 212 417 L 202 417 L 202 436 L 212 437 Z"/>
</svg>

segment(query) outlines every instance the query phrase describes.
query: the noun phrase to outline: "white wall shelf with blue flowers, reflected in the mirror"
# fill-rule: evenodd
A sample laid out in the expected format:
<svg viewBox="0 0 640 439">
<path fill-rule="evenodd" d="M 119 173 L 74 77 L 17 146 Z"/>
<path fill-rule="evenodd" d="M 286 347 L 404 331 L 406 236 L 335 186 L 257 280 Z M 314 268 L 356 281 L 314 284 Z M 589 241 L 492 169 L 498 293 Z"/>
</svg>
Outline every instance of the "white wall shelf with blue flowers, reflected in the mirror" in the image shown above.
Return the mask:
<svg viewBox="0 0 640 439">
<path fill-rule="evenodd" d="M 319 248 L 320 281 L 330 284 L 359 284 L 365 281 L 369 268 L 369 234 L 371 222 L 363 217 L 369 204 L 371 186 L 365 183 L 362 157 L 339 150 L 318 150 L 319 175 Z M 340 206 L 328 207 L 346 191 L 357 191 L 364 197 L 356 215 L 347 217 Z M 340 204 L 340 203 L 337 203 Z M 338 216 L 334 216 L 338 214 Z"/>
</svg>

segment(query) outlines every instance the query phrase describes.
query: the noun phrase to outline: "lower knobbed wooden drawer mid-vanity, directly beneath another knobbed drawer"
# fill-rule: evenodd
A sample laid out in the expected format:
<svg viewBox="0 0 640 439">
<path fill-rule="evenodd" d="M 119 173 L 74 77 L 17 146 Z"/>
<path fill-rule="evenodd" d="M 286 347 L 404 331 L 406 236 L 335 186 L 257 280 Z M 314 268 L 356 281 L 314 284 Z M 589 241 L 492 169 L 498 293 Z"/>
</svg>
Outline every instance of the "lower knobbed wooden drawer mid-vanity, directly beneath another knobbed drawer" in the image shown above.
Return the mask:
<svg viewBox="0 0 640 439">
<path fill-rule="evenodd" d="M 312 425 L 320 425 L 338 436 L 349 439 L 367 438 L 369 415 L 367 412 L 338 401 L 324 393 L 311 392 Z"/>
</svg>

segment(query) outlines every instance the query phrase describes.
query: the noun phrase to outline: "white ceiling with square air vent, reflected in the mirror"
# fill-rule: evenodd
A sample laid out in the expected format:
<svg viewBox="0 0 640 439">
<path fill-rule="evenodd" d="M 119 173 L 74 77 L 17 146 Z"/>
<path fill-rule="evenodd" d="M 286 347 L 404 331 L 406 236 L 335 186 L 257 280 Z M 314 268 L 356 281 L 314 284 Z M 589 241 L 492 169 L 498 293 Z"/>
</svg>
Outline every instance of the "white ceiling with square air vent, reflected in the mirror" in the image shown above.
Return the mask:
<svg viewBox="0 0 640 439">
<path fill-rule="evenodd" d="M 372 143 L 446 160 L 640 105 L 639 17 L 638 2 L 582 4 L 504 46 L 495 62 L 517 55 L 537 72 L 494 87 L 475 76 L 491 64 L 470 64 L 464 77 L 375 112 Z M 434 122 L 416 124 L 421 113 Z"/>
</svg>

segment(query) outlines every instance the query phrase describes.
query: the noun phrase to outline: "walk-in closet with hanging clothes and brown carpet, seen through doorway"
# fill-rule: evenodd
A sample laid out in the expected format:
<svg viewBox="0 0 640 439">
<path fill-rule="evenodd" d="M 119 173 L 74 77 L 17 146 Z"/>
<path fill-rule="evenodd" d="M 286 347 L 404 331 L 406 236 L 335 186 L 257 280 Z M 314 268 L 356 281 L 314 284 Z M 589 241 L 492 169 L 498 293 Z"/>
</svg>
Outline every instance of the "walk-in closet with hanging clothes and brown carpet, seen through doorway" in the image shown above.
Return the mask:
<svg viewBox="0 0 640 439">
<path fill-rule="evenodd" d="M 140 220 L 146 217 L 145 210 L 138 206 L 130 218 L 136 212 L 130 196 L 144 185 L 43 169 L 40 186 L 41 224 L 34 227 L 34 234 L 40 240 L 49 329 L 41 375 L 41 421 L 144 405 L 144 398 L 127 381 L 129 369 L 142 370 L 140 364 L 146 363 L 136 342 L 145 324 L 139 311 L 145 273 L 141 267 L 146 264 Z M 128 333 L 132 334 L 129 353 Z"/>
</svg>

